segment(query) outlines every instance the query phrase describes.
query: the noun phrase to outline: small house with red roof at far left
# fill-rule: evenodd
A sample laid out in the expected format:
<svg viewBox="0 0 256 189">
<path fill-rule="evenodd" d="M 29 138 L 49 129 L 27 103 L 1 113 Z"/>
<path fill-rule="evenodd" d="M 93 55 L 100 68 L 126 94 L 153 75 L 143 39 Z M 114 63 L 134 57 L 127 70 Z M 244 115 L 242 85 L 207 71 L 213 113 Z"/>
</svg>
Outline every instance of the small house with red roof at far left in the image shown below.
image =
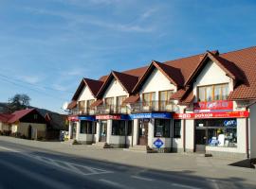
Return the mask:
<svg viewBox="0 0 256 189">
<path fill-rule="evenodd" d="M 28 139 L 46 137 L 46 119 L 36 109 L 0 114 L 0 131 Z"/>
</svg>

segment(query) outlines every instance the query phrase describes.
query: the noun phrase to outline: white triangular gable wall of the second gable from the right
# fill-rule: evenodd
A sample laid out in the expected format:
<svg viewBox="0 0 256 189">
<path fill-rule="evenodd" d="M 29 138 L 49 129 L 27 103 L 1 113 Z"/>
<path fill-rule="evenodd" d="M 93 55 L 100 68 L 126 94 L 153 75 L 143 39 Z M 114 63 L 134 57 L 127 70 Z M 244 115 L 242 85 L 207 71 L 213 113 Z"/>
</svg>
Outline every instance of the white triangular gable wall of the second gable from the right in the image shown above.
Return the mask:
<svg viewBox="0 0 256 189">
<path fill-rule="evenodd" d="M 176 87 L 167 77 L 155 68 L 151 76 L 144 82 L 139 94 L 141 97 L 143 93 L 155 92 L 155 100 L 158 100 L 158 92 L 167 90 L 174 90 L 174 92 L 176 92 Z"/>
</svg>

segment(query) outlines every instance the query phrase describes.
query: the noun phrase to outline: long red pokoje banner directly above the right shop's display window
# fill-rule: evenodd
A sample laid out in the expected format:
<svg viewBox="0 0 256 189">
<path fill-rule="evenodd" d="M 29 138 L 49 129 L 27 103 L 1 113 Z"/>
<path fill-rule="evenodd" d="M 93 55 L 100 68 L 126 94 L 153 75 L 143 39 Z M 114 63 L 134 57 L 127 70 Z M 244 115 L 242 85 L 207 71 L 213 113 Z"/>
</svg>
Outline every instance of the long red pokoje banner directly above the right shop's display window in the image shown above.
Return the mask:
<svg viewBox="0 0 256 189">
<path fill-rule="evenodd" d="M 200 113 L 174 113 L 174 119 L 208 119 L 208 118 L 243 118 L 248 117 L 249 112 L 200 112 Z"/>
</svg>

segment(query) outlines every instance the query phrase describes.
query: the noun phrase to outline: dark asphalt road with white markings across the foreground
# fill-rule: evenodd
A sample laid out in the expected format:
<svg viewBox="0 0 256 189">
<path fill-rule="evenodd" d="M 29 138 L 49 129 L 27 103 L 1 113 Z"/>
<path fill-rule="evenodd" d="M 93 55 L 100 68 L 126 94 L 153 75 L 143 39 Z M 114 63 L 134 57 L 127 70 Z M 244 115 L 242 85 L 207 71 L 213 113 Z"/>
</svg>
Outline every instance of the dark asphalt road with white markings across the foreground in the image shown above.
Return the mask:
<svg viewBox="0 0 256 189">
<path fill-rule="evenodd" d="M 171 163 L 171 162 L 170 162 Z M 210 180 L 186 171 L 165 172 L 100 162 L 0 142 L 0 189 L 12 188 L 256 188 L 239 180 Z"/>
</svg>

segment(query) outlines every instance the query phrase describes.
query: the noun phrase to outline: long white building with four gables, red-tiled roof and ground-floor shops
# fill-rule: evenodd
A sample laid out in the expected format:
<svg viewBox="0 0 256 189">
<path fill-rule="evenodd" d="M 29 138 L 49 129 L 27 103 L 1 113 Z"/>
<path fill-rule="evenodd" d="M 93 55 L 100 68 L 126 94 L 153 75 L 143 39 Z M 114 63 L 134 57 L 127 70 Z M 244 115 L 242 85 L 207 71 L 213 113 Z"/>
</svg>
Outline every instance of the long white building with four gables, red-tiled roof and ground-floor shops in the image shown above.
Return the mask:
<svg viewBox="0 0 256 189">
<path fill-rule="evenodd" d="M 153 60 L 93 82 L 83 79 L 69 105 L 70 138 L 158 152 L 255 158 L 255 62 L 256 47 L 207 51 Z"/>
</svg>

